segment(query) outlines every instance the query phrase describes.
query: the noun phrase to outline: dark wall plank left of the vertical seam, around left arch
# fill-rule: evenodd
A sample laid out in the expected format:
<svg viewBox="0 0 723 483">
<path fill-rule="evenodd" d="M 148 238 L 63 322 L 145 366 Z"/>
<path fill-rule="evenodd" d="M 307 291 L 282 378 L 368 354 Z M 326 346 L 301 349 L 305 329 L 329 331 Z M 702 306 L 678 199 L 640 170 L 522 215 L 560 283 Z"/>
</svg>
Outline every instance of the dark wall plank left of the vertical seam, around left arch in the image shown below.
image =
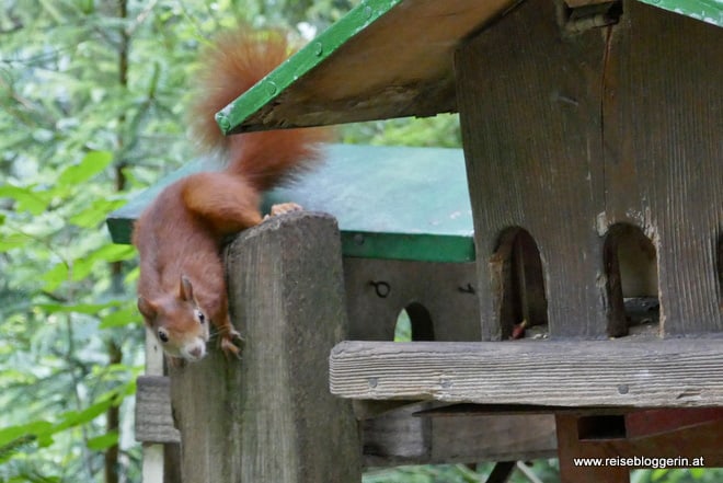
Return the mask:
<svg viewBox="0 0 723 483">
<path fill-rule="evenodd" d="M 540 252 L 550 334 L 602 337 L 600 31 L 563 37 L 554 2 L 529 0 L 458 50 L 457 93 L 478 256 L 483 340 L 501 297 L 485 263 L 520 227 Z M 517 321 L 519 323 L 521 321 Z"/>
</svg>

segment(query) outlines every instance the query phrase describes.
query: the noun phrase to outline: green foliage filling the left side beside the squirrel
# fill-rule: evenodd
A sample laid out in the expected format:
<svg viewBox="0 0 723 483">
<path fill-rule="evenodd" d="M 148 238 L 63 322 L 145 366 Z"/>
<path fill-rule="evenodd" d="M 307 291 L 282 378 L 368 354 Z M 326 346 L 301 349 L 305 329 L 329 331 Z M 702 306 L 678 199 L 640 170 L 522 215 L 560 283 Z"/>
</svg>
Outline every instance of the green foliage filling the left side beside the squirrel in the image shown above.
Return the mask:
<svg viewBox="0 0 723 483">
<path fill-rule="evenodd" d="M 193 156 L 183 106 L 214 33 L 313 35 L 352 3 L 2 0 L 0 482 L 99 481 L 116 446 L 117 470 L 139 480 L 136 254 L 104 220 Z"/>
</svg>

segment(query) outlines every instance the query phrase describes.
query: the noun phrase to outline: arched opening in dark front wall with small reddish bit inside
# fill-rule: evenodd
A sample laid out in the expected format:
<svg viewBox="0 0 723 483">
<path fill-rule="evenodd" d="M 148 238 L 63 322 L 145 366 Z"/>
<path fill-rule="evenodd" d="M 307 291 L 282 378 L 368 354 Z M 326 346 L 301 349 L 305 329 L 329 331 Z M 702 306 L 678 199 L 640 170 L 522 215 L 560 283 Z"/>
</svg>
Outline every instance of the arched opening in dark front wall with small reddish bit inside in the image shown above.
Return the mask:
<svg viewBox="0 0 723 483">
<path fill-rule="evenodd" d="M 502 338 L 520 338 L 527 327 L 547 325 L 542 261 L 532 235 L 521 228 L 503 232 L 490 266 Z"/>
</svg>

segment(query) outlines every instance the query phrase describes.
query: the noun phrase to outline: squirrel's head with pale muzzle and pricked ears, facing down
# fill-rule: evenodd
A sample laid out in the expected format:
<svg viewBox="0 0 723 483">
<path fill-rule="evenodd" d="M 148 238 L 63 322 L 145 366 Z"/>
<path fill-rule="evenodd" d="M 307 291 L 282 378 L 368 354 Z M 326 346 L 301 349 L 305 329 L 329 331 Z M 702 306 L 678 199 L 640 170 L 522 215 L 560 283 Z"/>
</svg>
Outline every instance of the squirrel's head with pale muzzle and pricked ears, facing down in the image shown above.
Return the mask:
<svg viewBox="0 0 723 483">
<path fill-rule="evenodd" d="M 188 278 L 181 277 L 177 294 L 157 300 L 138 297 L 138 310 L 165 354 L 187 361 L 204 358 L 209 321 L 193 296 Z"/>
</svg>

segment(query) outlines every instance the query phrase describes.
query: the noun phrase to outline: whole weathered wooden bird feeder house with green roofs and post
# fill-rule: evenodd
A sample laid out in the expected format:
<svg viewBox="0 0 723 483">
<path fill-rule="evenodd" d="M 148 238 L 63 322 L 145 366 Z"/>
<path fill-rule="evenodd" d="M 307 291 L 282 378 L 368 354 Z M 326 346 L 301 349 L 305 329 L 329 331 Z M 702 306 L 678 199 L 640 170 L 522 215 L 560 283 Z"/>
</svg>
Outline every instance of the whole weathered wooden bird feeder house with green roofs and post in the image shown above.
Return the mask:
<svg viewBox="0 0 723 483">
<path fill-rule="evenodd" d="M 229 135 L 457 112 L 463 150 L 333 146 L 268 195 L 333 218 L 229 248 L 249 347 L 170 375 L 183 481 L 723 465 L 721 25 L 702 0 L 367 0 L 221 111 Z"/>
</svg>

